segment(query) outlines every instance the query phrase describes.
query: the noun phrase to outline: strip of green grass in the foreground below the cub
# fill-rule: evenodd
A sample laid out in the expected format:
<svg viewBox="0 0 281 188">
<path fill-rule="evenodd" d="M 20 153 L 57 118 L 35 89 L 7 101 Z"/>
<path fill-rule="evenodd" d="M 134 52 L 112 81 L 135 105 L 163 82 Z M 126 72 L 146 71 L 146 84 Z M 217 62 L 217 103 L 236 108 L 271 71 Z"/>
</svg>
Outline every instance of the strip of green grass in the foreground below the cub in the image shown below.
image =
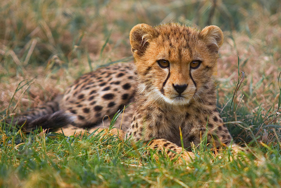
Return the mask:
<svg viewBox="0 0 281 188">
<path fill-rule="evenodd" d="M 5 135 L 5 136 L 4 136 Z M 25 140 L 25 142 L 22 142 Z M 144 155 L 142 145 L 101 132 L 81 137 L 2 134 L 2 187 L 280 187 L 280 151 L 267 146 L 219 156 L 195 149 L 189 164 Z M 200 148 L 200 147 L 199 147 Z M 203 148 L 203 147 L 202 147 Z M 256 156 L 259 159 L 256 159 Z"/>
</svg>

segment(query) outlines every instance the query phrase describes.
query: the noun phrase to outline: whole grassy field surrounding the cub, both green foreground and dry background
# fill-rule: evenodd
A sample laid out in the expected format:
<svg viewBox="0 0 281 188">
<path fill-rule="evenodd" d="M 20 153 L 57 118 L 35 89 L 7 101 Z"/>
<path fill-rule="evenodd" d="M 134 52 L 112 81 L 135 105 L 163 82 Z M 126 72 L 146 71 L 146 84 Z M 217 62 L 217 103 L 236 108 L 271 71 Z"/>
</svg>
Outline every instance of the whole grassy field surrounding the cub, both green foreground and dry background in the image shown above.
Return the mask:
<svg viewBox="0 0 281 188">
<path fill-rule="evenodd" d="M 26 135 L 1 123 L 1 187 L 281 187 L 281 3 L 269 1 L 0 1 L 0 117 L 62 93 L 84 73 L 132 61 L 137 23 L 218 25 L 218 110 L 247 151 L 174 164 L 109 130 Z M 243 73 L 242 73 L 243 71 Z M 119 125 L 116 125 L 119 127 Z"/>
</svg>

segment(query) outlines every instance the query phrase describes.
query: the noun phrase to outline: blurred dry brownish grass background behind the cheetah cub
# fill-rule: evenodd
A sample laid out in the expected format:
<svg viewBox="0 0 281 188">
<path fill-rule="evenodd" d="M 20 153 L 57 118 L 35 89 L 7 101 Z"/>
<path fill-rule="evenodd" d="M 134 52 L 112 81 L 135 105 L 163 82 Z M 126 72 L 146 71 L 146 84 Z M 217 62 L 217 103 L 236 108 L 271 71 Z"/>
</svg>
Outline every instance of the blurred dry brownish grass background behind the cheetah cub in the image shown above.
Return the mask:
<svg viewBox="0 0 281 188">
<path fill-rule="evenodd" d="M 217 25 L 225 37 L 218 109 L 225 122 L 243 123 L 244 128 L 227 124 L 236 140 L 249 142 L 255 135 L 269 143 L 270 126 L 280 125 L 280 5 L 279 0 L 2 0 L 0 115 L 51 100 L 101 65 L 133 61 L 129 32 L 137 23 Z M 245 78 L 234 94 L 238 71 Z"/>
</svg>

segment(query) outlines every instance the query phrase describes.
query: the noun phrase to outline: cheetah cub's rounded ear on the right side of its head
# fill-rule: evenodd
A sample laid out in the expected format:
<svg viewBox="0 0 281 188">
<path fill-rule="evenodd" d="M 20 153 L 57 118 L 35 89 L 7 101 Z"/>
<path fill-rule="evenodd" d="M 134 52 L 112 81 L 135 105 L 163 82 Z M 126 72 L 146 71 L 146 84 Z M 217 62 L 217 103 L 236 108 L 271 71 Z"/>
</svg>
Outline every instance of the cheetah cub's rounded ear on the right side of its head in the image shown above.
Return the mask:
<svg viewBox="0 0 281 188">
<path fill-rule="evenodd" d="M 211 53 L 218 53 L 224 42 L 224 34 L 218 26 L 210 25 L 202 29 L 199 38 L 203 40 Z"/>
</svg>

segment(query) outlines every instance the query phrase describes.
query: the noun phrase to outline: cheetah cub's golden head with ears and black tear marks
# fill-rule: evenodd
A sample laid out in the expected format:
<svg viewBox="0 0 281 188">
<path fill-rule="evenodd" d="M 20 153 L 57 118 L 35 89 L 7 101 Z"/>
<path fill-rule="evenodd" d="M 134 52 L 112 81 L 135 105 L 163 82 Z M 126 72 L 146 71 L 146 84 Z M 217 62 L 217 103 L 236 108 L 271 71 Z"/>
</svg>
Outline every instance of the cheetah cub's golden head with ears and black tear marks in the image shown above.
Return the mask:
<svg viewBox="0 0 281 188">
<path fill-rule="evenodd" d="M 223 33 L 214 25 L 200 31 L 176 23 L 155 28 L 142 23 L 132 28 L 130 43 L 140 92 L 153 101 L 184 105 L 209 88 Z"/>
</svg>

